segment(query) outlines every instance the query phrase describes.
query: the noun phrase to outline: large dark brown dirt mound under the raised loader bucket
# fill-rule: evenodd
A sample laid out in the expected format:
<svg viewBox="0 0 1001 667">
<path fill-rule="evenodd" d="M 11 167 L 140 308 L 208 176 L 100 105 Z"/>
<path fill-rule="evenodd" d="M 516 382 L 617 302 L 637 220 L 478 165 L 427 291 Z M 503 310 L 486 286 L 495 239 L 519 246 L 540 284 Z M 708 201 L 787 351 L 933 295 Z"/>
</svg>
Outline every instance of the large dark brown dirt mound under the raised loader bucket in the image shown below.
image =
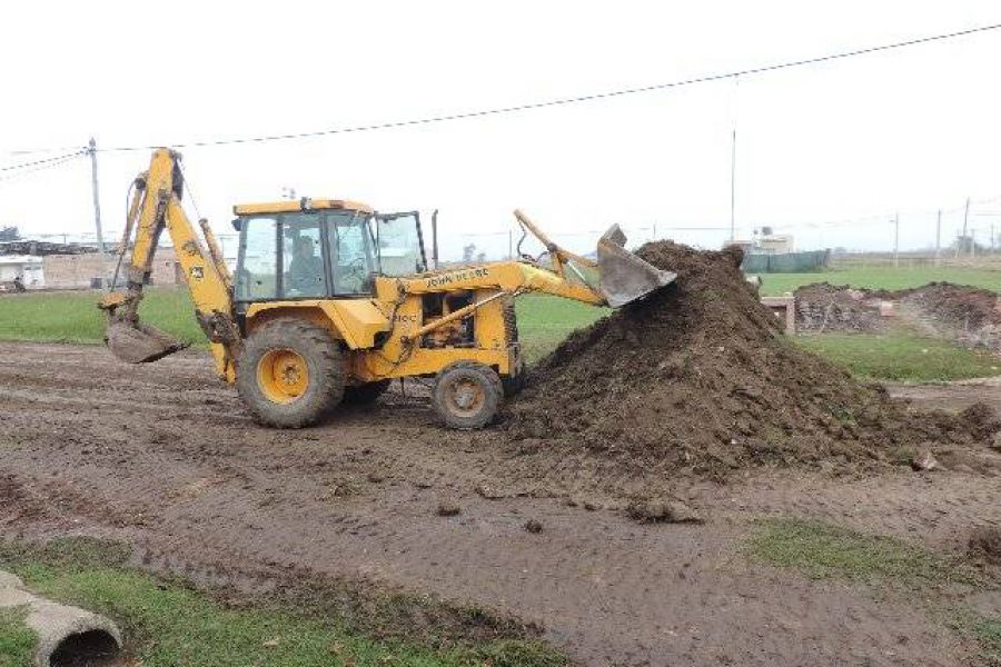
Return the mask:
<svg viewBox="0 0 1001 667">
<path fill-rule="evenodd" d="M 637 252 L 676 282 L 574 332 L 511 408 L 518 438 L 586 450 L 638 471 L 724 478 L 753 464 L 886 461 L 904 446 L 974 444 L 994 429 L 910 412 L 796 348 L 761 306 L 739 250 L 671 242 Z M 990 424 L 982 424 L 987 419 Z"/>
</svg>

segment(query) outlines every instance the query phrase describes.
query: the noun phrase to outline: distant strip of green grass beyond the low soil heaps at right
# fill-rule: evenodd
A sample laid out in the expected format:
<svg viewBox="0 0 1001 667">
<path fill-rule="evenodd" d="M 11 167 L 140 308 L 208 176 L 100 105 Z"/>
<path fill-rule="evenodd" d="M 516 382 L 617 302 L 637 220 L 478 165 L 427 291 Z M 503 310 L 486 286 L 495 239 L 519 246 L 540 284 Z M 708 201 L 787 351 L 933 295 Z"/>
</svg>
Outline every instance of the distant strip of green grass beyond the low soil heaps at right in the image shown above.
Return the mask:
<svg viewBox="0 0 1001 667">
<path fill-rule="evenodd" d="M 1001 271 L 963 267 L 851 267 L 810 273 L 763 273 L 761 293 L 769 296 L 795 291 L 811 282 L 850 285 L 870 289 L 906 289 L 929 282 L 954 282 L 1001 292 Z"/>
</svg>

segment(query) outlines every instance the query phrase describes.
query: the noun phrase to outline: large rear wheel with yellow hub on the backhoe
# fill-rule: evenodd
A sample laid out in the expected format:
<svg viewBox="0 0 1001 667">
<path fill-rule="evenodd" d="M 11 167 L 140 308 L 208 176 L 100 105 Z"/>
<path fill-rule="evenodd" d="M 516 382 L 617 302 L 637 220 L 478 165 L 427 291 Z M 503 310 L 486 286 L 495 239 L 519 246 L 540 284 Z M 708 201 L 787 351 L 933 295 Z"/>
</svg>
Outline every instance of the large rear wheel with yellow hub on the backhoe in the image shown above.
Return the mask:
<svg viewBox="0 0 1001 667">
<path fill-rule="evenodd" d="M 330 332 L 296 318 L 279 318 L 251 334 L 237 362 L 237 390 L 254 419 L 266 426 L 311 426 L 344 396 L 344 360 Z"/>
</svg>

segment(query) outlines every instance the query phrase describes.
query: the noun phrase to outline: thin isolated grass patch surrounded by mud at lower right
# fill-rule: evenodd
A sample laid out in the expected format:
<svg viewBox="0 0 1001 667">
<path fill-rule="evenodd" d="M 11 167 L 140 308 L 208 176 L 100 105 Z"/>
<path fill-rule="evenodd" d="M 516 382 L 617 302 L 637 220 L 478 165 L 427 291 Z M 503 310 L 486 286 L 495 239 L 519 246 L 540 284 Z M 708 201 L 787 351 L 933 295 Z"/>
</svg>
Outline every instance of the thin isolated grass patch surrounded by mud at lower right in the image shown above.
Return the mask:
<svg viewBox="0 0 1001 667">
<path fill-rule="evenodd" d="M 865 535 L 813 519 L 765 519 L 746 544 L 759 563 L 795 569 L 811 579 L 906 584 L 977 584 L 971 571 L 920 547 L 884 536 Z"/>
</svg>

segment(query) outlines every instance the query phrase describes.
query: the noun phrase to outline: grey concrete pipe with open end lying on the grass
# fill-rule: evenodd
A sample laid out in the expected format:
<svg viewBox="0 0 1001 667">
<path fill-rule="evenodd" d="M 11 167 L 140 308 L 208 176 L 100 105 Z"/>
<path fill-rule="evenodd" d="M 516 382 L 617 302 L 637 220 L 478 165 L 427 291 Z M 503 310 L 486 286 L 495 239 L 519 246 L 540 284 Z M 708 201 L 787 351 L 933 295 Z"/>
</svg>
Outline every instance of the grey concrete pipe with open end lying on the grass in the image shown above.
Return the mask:
<svg viewBox="0 0 1001 667">
<path fill-rule="evenodd" d="M 121 656 L 121 633 L 98 614 L 40 598 L 16 576 L 0 570 L 0 609 L 23 608 L 24 625 L 38 637 L 38 667 L 113 665 Z"/>
</svg>

